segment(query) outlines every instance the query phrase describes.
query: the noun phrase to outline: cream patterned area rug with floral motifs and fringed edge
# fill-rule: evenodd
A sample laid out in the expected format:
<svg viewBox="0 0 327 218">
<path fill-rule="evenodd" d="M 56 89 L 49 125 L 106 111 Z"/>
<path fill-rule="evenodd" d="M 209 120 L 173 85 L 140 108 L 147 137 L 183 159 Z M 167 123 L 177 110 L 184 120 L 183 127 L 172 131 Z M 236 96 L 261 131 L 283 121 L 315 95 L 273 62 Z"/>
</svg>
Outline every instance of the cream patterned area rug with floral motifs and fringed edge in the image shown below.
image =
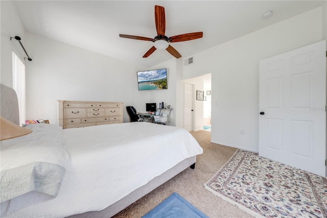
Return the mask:
<svg viewBox="0 0 327 218">
<path fill-rule="evenodd" d="M 327 217 L 327 178 L 238 149 L 204 187 L 251 215 Z"/>
</svg>

